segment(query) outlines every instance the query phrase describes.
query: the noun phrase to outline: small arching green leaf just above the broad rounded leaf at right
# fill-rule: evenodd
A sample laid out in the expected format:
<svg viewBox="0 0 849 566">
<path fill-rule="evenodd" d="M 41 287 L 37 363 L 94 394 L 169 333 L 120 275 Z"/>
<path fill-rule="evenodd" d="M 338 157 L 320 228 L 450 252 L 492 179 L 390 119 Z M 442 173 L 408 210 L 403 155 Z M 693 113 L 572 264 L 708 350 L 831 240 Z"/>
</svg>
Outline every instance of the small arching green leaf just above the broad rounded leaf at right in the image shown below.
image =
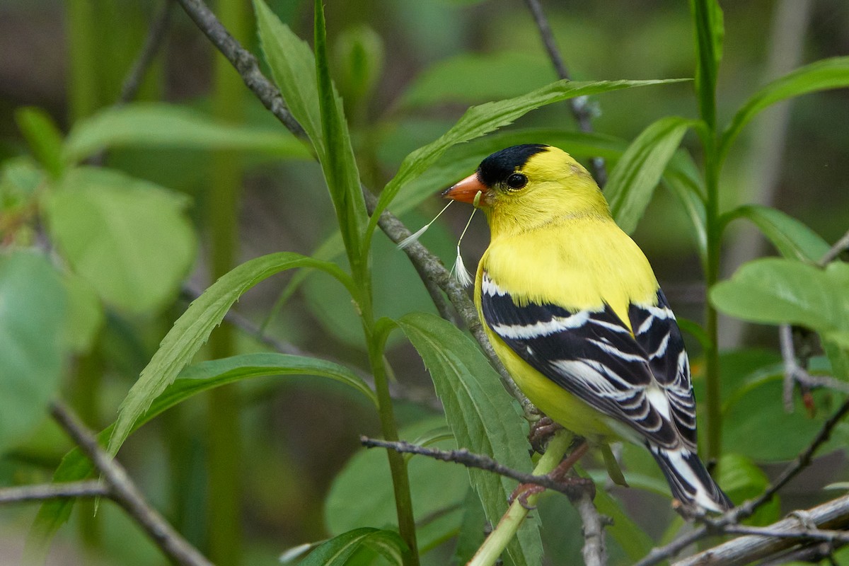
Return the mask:
<svg viewBox="0 0 849 566">
<path fill-rule="evenodd" d="M 769 206 L 743 205 L 728 212 L 721 223 L 746 218 L 789 260 L 817 262 L 829 250 L 829 244 L 807 225 L 781 210 Z"/>
</svg>

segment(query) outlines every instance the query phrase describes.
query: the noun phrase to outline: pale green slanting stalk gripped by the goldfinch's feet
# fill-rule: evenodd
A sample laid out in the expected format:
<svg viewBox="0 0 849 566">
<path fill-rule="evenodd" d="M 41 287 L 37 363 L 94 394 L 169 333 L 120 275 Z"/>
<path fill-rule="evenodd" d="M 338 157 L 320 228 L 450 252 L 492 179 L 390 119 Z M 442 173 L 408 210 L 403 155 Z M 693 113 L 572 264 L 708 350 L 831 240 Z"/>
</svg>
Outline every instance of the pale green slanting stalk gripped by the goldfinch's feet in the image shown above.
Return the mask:
<svg viewBox="0 0 849 566">
<path fill-rule="evenodd" d="M 571 440 L 572 434 L 565 430 L 559 430 L 554 434 L 554 438 L 548 442 L 545 454 L 539 459 L 537 467 L 533 470 L 534 475 L 548 474 L 556 468 L 565 456 L 566 450 L 569 449 Z M 534 507 L 539 496 L 538 493 L 528 496 L 527 506 Z M 524 507 L 518 498 L 515 499 L 507 509 L 507 513 L 504 513 L 504 516 L 498 522 L 498 526 L 486 537 L 486 541 L 483 541 L 467 566 L 492 566 L 496 563 L 498 557 L 504 552 L 504 548 L 513 540 L 522 522 L 527 517 L 528 507 Z"/>
</svg>

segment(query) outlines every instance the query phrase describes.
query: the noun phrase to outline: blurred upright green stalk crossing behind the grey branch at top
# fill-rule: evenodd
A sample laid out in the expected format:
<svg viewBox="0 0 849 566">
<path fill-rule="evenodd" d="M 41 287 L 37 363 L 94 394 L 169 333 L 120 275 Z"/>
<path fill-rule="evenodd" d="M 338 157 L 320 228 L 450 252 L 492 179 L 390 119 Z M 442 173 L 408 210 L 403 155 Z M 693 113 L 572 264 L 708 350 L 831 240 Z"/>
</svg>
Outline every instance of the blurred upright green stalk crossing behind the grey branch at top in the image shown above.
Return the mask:
<svg viewBox="0 0 849 566">
<path fill-rule="evenodd" d="M 250 6 L 242 0 L 222 0 L 218 17 L 228 31 L 245 42 L 250 37 Z M 220 54 L 215 56 L 215 87 L 212 108 L 217 118 L 229 122 L 242 119 L 243 83 L 233 67 Z M 210 238 L 210 275 L 222 277 L 236 264 L 239 242 L 239 188 L 242 182 L 239 155 L 216 154 L 212 164 L 207 227 Z M 213 359 L 235 353 L 233 327 L 225 324 L 210 336 Z M 209 557 L 219 566 L 239 564 L 241 533 L 241 401 L 239 387 L 233 384 L 211 391 L 208 401 L 208 491 L 209 513 L 206 532 Z"/>
</svg>

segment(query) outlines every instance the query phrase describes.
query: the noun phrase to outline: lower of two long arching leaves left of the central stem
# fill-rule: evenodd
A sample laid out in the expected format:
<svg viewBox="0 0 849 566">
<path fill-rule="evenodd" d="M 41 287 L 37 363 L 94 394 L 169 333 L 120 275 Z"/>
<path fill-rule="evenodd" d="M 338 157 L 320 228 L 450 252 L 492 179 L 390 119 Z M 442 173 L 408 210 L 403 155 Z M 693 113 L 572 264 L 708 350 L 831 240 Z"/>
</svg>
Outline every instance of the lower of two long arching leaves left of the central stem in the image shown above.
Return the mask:
<svg viewBox="0 0 849 566">
<path fill-rule="evenodd" d="M 166 387 L 165 391 L 151 403 L 149 409 L 141 417 L 138 417 L 132 425 L 131 432 L 189 397 L 244 379 L 272 375 L 315 375 L 331 378 L 351 385 L 354 389 L 366 395 L 373 403 L 376 402 L 374 392 L 363 383 L 362 379 L 358 378 L 348 368 L 332 361 L 277 353 L 245 354 L 222 358 L 221 360 L 203 361 L 194 366 L 186 367 L 177 376 L 174 383 Z M 114 429 L 115 423 L 110 424 L 98 434 L 98 441 L 101 445 L 106 444 Z M 87 457 L 78 448 L 75 448 L 62 458 L 59 468 L 53 474 L 53 483 L 85 479 L 92 474 L 93 470 L 94 468 Z M 28 553 L 35 556 L 46 548 L 59 527 L 70 518 L 74 501 L 69 499 L 42 503 L 30 530 L 30 535 L 27 537 Z"/>
</svg>

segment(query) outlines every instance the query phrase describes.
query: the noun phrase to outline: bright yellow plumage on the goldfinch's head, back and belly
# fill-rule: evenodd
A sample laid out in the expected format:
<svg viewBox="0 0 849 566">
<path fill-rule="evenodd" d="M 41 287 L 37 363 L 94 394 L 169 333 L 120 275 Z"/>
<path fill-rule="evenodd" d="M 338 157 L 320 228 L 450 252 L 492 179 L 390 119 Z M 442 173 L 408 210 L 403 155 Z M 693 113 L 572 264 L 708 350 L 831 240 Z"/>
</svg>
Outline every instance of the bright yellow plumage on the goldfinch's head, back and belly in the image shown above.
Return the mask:
<svg viewBox="0 0 849 566">
<path fill-rule="evenodd" d="M 631 303 L 655 305 L 658 284 L 649 261 L 616 226 L 582 165 L 551 148 L 531 156 L 521 172 L 529 179 L 525 188 L 493 190 L 482 199 L 491 241 L 475 280 L 479 315 L 484 270 L 518 305 L 549 303 L 574 312 L 607 304 L 626 324 Z M 484 328 L 519 388 L 554 421 L 596 440 L 621 437 L 621 425 L 537 372 Z"/>
</svg>

